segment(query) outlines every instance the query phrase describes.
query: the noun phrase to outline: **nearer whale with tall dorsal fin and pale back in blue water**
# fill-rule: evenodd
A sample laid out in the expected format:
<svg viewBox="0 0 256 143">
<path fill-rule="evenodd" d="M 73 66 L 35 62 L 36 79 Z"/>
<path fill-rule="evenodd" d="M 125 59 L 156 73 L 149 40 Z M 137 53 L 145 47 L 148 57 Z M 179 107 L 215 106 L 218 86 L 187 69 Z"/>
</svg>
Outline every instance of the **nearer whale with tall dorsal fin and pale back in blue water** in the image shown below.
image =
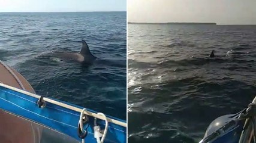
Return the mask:
<svg viewBox="0 0 256 143">
<path fill-rule="evenodd" d="M 97 59 L 97 57 L 92 55 L 89 46 L 84 40 L 82 40 L 82 49 L 79 53 L 59 52 L 53 54 L 53 56 L 68 60 L 79 61 L 81 63 L 93 63 Z"/>
</svg>

